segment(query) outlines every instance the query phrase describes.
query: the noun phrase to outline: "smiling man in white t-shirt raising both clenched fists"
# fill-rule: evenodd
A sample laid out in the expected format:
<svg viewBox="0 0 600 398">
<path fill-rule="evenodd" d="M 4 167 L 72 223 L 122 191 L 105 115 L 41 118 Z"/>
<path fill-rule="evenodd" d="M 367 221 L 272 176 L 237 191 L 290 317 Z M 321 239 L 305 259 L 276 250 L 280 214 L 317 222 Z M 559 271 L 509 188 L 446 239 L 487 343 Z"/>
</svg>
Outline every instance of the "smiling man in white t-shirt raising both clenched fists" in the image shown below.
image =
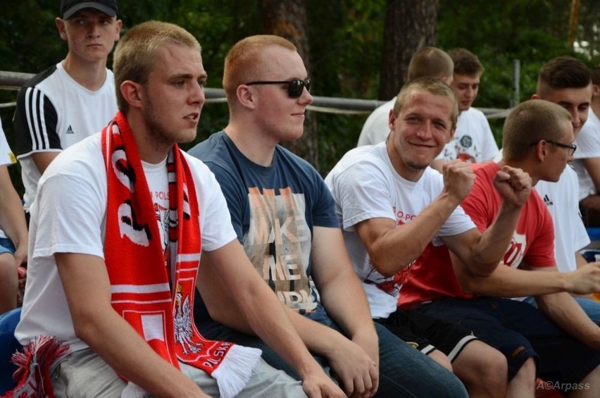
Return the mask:
<svg viewBox="0 0 600 398">
<path fill-rule="evenodd" d="M 444 82 L 432 77 L 408 82 L 390 113 L 387 141 L 352 149 L 325 182 L 375 321 L 446 363 L 471 397 L 504 397 L 506 379 L 499 375 L 506 374 L 506 359 L 500 352 L 476 340 L 470 329 L 397 307 L 411 263 L 430 242 L 447 244 L 476 275 L 492 273 L 529 196 L 525 173 L 499 171 L 501 217 L 484 234 L 477 231 L 460 207 L 473 186 L 473 170 L 457 160 L 444 166 L 443 176 L 429 167 L 452 138 L 457 116 L 454 92 Z M 428 272 L 436 273 L 437 264 Z"/>
</svg>

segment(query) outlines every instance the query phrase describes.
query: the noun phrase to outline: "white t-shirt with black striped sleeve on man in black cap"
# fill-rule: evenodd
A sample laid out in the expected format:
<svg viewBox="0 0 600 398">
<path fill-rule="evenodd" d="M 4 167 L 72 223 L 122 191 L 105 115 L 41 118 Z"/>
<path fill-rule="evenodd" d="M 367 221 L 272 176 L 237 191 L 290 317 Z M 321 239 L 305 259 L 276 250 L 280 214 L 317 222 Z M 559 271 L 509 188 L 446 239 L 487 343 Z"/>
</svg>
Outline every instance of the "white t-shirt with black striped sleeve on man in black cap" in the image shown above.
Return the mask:
<svg viewBox="0 0 600 398">
<path fill-rule="evenodd" d="M 96 91 L 73 80 L 62 62 L 50 71 L 43 80 L 20 90 L 15 112 L 25 211 L 30 211 L 40 177 L 31 155 L 58 152 L 80 142 L 104 128 L 118 110 L 111 70 L 106 69 L 106 80 Z"/>
</svg>

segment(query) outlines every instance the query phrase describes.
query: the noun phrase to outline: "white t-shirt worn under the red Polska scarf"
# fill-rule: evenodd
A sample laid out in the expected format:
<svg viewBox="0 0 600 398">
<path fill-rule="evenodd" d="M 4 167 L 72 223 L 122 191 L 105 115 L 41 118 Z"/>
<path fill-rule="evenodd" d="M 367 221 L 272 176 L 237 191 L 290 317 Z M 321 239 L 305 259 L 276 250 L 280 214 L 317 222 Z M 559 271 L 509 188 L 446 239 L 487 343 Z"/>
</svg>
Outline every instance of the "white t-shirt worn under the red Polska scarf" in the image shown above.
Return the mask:
<svg viewBox="0 0 600 398">
<path fill-rule="evenodd" d="M 227 203 L 213 173 L 198 159 L 184 155 L 196 185 L 202 249 L 218 249 L 237 239 Z M 75 336 L 54 254 L 104 259 L 106 167 L 99 134 L 65 149 L 52 161 L 39 180 L 31 215 L 27 289 L 15 337 L 27 344 L 38 335 L 52 335 L 77 351 L 87 344 Z"/>
</svg>

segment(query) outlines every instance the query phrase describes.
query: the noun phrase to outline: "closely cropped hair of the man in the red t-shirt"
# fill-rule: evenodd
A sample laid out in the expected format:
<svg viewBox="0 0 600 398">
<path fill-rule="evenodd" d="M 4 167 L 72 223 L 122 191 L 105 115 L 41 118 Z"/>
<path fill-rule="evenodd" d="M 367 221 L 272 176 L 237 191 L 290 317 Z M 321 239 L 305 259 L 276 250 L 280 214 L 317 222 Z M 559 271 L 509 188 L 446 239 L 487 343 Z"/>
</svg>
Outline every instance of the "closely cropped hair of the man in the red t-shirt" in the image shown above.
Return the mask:
<svg viewBox="0 0 600 398">
<path fill-rule="evenodd" d="M 530 99 L 515 106 L 508 114 L 502 129 L 504 159 L 526 158 L 534 144 L 546 139 L 558 141 L 563 137 L 561 122 L 571 122 L 570 113 L 554 102 Z"/>
</svg>

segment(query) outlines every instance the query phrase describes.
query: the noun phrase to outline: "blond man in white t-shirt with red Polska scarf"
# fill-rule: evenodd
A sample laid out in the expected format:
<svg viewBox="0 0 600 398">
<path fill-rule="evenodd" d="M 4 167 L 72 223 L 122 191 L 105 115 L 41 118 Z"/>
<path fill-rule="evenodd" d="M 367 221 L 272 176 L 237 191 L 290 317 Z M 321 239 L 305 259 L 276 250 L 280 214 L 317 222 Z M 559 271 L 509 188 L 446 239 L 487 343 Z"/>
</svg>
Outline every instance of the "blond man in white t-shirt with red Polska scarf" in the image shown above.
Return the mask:
<svg viewBox="0 0 600 398">
<path fill-rule="evenodd" d="M 205 101 L 200 44 L 177 25 L 142 23 L 120 40 L 113 70 L 120 111 L 39 182 L 15 332 L 32 372 L 14 395 L 341 397 L 235 240 L 213 174 L 177 146 L 196 137 Z M 198 332 L 199 263 L 303 384 L 256 349 Z"/>
</svg>

